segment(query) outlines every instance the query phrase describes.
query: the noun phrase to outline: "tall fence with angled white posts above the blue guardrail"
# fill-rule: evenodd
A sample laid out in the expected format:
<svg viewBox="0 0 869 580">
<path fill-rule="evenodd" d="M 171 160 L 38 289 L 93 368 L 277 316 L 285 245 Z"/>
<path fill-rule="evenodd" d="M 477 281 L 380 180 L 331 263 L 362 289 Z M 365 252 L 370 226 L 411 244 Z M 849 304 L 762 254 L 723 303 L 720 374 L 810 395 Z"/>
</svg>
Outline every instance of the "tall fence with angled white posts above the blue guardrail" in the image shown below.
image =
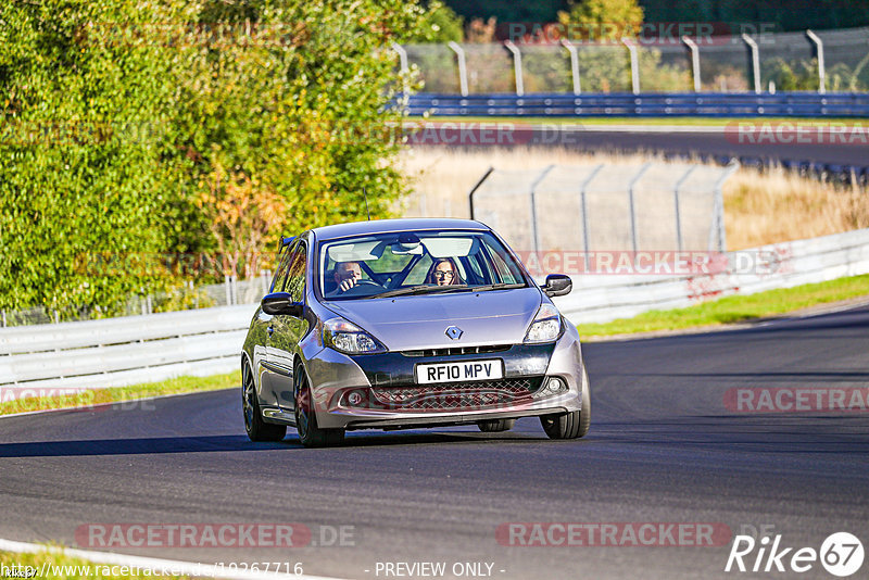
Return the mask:
<svg viewBox="0 0 869 580">
<path fill-rule="evenodd" d="M 637 49 L 633 64 L 630 46 Z M 546 39 L 404 49 L 408 66 L 417 70 L 428 93 L 869 90 L 869 27 L 752 30 L 635 42 Z"/>
</svg>

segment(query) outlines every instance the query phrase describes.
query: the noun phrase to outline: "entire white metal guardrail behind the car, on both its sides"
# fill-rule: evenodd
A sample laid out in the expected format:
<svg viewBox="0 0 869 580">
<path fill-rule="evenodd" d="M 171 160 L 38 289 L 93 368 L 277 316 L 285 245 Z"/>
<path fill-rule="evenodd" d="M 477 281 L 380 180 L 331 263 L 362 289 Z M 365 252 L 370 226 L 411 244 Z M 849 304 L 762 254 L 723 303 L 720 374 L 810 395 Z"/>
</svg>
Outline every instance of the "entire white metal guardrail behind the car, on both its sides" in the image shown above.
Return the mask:
<svg viewBox="0 0 869 580">
<path fill-rule="evenodd" d="M 869 229 L 726 255 L 736 263 L 740 253 L 765 255 L 776 267 L 694 276 L 574 273 L 574 291 L 555 300 L 572 323 L 594 323 L 867 274 Z M 238 368 L 253 310 L 248 304 L 2 329 L 0 399 L 228 373 Z"/>
</svg>

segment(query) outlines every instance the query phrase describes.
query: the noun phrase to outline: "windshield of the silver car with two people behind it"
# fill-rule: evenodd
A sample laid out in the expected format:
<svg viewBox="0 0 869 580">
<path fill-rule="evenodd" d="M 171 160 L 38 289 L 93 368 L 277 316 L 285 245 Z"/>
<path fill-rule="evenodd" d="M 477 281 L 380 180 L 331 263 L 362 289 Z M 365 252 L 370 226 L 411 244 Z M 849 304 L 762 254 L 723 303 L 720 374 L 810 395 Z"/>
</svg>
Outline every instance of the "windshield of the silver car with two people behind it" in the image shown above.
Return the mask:
<svg viewBox="0 0 869 580">
<path fill-rule="evenodd" d="M 327 300 L 489 291 L 527 286 L 507 249 L 488 231 L 402 231 L 319 244 Z"/>
</svg>

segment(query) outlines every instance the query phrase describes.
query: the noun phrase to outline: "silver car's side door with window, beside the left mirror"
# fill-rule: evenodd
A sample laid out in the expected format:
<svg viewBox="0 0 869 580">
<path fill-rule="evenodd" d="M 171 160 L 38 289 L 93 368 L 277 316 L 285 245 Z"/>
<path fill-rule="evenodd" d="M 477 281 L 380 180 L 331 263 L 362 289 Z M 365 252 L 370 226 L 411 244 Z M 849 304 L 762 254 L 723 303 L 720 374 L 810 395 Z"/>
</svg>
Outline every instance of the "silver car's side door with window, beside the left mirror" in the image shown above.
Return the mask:
<svg viewBox="0 0 869 580">
<path fill-rule="evenodd" d="M 300 240 L 291 248 L 286 283 L 282 291 L 289 292 L 293 302 L 303 302 L 305 295 L 305 272 L 307 269 L 307 243 Z M 278 290 L 276 290 L 278 291 Z M 299 341 L 307 332 L 304 317 L 276 315 L 272 317 L 266 339 L 268 367 L 277 404 L 284 409 L 293 408 L 293 358 Z"/>
</svg>

